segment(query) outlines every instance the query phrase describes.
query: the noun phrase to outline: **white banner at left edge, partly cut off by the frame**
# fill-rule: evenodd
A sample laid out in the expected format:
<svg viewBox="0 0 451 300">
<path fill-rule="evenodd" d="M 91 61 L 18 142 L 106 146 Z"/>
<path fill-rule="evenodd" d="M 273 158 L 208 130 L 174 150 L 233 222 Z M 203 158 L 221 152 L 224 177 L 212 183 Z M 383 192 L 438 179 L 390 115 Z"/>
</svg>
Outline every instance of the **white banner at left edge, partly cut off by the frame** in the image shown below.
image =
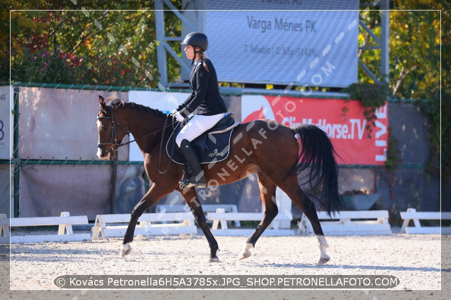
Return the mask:
<svg viewBox="0 0 451 300">
<path fill-rule="evenodd" d="M 13 87 L 0 86 L 0 159 L 13 157 Z"/>
</svg>

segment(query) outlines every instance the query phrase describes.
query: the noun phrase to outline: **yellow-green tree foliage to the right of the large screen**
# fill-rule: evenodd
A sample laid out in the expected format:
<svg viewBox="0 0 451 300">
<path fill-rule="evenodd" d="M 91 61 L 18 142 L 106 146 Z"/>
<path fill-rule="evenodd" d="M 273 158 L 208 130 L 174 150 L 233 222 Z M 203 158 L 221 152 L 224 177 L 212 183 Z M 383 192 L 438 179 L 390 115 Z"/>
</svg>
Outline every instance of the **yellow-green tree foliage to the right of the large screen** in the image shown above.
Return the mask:
<svg viewBox="0 0 451 300">
<path fill-rule="evenodd" d="M 444 0 L 390 1 L 388 82 L 393 97 L 399 101 L 412 99 L 429 117 L 431 158 L 428 170 L 431 173 L 439 171 L 440 155 L 442 169 L 451 168 L 451 151 L 447 150 L 451 147 L 449 138 L 441 138 L 443 151 L 440 152 L 440 129 L 442 134 L 448 133 L 443 136 L 451 133 L 449 8 L 448 2 Z M 379 11 L 362 10 L 360 17 L 380 36 Z M 363 30 L 359 35 L 359 44 L 377 45 L 371 35 Z M 378 58 L 380 49 L 360 51 L 359 56 L 383 80 Z M 373 82 L 363 69 L 359 69 L 359 78 L 361 82 Z M 446 110 L 447 114 L 444 113 Z"/>
</svg>

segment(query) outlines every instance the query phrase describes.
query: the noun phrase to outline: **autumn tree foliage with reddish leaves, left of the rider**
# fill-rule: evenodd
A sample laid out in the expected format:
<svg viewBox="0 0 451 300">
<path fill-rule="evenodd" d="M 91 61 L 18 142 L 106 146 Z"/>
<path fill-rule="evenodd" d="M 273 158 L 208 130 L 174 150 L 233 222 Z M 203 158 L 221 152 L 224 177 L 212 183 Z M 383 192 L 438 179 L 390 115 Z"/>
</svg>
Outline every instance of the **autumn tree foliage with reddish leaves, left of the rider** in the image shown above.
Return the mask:
<svg viewBox="0 0 451 300">
<path fill-rule="evenodd" d="M 157 86 L 155 13 L 148 1 L 51 0 L 32 5 L 8 0 L 5 6 L 17 9 L 11 11 L 13 81 Z M 3 38 L 5 21 L 2 15 Z M 173 13 L 165 12 L 165 23 L 166 35 L 180 35 L 181 22 Z M 1 57 L 4 68 L 6 54 Z M 179 66 L 169 56 L 168 77 L 173 80 Z M 9 74 L 0 80 L 8 81 Z"/>
</svg>

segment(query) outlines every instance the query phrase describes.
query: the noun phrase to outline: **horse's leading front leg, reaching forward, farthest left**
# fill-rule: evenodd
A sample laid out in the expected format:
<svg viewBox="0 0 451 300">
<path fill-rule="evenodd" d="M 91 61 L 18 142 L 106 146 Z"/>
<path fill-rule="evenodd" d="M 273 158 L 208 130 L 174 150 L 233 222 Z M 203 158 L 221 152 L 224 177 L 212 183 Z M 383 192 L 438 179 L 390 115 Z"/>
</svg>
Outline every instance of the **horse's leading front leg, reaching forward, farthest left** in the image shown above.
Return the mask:
<svg viewBox="0 0 451 300">
<path fill-rule="evenodd" d="M 173 190 L 173 189 L 172 189 Z M 144 197 L 139 201 L 138 204 L 133 208 L 130 214 L 130 222 L 128 223 L 127 230 L 125 231 L 124 240 L 122 241 L 120 256 L 124 257 L 130 253 L 131 246 L 130 242 L 133 240 L 133 235 L 135 233 L 136 223 L 138 218 L 146 211 L 147 208 L 158 202 L 163 196 L 167 195 L 172 191 L 170 188 L 160 189 L 158 185 L 154 182 L 152 187 L 147 191 Z"/>
</svg>

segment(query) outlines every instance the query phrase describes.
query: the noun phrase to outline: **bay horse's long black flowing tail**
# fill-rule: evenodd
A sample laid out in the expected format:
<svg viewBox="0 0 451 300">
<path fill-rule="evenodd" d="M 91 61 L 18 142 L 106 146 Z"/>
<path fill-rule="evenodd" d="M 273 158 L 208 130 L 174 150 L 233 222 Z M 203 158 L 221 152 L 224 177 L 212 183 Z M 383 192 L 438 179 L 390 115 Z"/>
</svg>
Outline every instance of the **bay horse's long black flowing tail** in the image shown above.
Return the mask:
<svg viewBox="0 0 451 300">
<path fill-rule="evenodd" d="M 344 206 L 344 202 L 338 193 L 338 165 L 335 156 L 339 156 L 332 142 L 326 132 L 315 125 L 301 124 L 292 129 L 301 138 L 296 170 L 301 174 L 310 168 L 301 180 L 308 183 L 313 192 L 323 184 L 322 204 L 325 205 L 329 215 L 331 212 L 338 212 Z"/>
</svg>

